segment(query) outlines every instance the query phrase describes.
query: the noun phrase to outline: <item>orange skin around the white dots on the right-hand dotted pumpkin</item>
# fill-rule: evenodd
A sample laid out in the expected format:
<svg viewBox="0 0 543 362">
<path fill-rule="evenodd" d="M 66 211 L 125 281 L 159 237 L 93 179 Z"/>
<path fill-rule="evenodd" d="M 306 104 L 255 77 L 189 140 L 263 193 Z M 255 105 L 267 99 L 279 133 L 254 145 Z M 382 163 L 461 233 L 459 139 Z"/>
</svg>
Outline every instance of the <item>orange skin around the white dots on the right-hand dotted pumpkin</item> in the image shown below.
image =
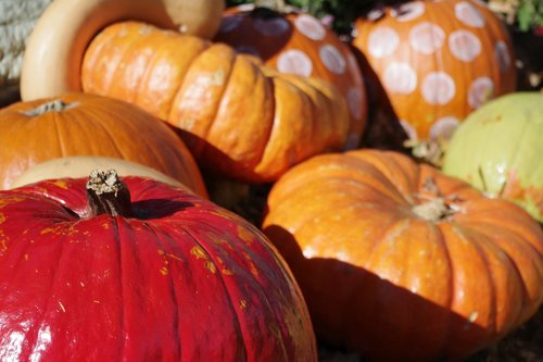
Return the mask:
<svg viewBox="0 0 543 362">
<path fill-rule="evenodd" d="M 352 45 L 363 54 L 364 63 L 366 63 L 363 66 L 364 74 L 374 75 L 371 80 L 376 85 L 368 88 L 376 90 L 374 95 L 377 97 L 376 105 L 390 102 L 391 111 L 397 120 L 405 121 L 413 127 L 419 139 L 428 139 L 431 126 L 439 118 L 454 117 L 462 122 L 475 110 L 468 102 L 469 89 L 475 79 L 488 77 L 493 82 L 493 90 L 487 95 L 480 95 L 484 100 L 514 91 L 516 89 L 515 53 L 509 34 L 501 20 L 478 1 L 445 0 L 409 3 L 422 3 L 424 13 L 411 21 L 400 21 L 393 15 L 394 9 L 388 7 L 382 17 L 376 21 L 358 17 L 355 22 L 355 37 Z M 466 25 L 455 17 L 455 5 L 460 3 L 471 5 L 480 14 L 484 22 L 481 27 Z M 411 32 L 425 23 L 438 25 L 443 30 L 442 46 L 431 53 L 416 51 L 411 45 Z M 376 29 L 383 28 L 391 28 L 399 36 L 399 46 L 392 54 L 375 57 L 369 49 L 370 36 Z M 449 42 L 451 34 L 455 30 L 467 30 L 479 39 L 480 53 L 473 60 L 462 61 L 453 55 Z M 501 64 L 496 60 L 495 46 L 498 41 L 503 41 L 506 47 L 503 50 L 508 58 L 508 66 L 505 70 L 501 70 Z M 467 45 L 464 43 L 464 47 Z M 388 66 L 396 62 L 405 62 L 415 71 L 417 85 L 413 91 L 402 93 L 387 88 L 383 82 L 384 72 Z M 432 72 L 444 72 L 455 83 L 454 96 L 444 104 L 430 104 L 421 96 L 425 76 Z M 439 91 L 439 87 L 435 87 L 432 92 Z"/>
</svg>

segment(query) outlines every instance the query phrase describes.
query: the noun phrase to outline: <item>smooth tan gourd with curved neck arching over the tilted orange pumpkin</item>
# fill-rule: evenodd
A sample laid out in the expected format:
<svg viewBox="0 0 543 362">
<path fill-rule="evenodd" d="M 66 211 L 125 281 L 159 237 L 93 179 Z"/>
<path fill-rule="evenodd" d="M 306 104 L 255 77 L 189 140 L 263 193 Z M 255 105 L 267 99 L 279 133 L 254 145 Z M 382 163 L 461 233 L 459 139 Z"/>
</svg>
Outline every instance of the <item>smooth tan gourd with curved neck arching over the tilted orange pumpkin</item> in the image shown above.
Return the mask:
<svg viewBox="0 0 543 362">
<path fill-rule="evenodd" d="M 55 0 L 28 37 L 21 97 L 27 101 L 80 91 L 84 50 L 109 24 L 130 18 L 211 38 L 224 8 L 224 0 Z"/>
</svg>

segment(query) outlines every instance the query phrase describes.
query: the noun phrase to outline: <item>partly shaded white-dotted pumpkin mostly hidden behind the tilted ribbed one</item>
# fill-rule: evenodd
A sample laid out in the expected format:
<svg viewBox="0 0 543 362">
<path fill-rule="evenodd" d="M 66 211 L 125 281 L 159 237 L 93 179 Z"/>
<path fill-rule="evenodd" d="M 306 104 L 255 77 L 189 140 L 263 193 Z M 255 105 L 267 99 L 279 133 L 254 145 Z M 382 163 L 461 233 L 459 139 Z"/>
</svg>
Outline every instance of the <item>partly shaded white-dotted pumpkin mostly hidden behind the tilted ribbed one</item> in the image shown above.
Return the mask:
<svg viewBox="0 0 543 362">
<path fill-rule="evenodd" d="M 359 65 L 348 45 L 317 18 L 244 4 L 229 8 L 215 41 L 261 58 L 281 73 L 320 77 L 344 96 L 350 115 L 345 149 L 358 147 L 367 118 L 366 89 Z"/>
</svg>

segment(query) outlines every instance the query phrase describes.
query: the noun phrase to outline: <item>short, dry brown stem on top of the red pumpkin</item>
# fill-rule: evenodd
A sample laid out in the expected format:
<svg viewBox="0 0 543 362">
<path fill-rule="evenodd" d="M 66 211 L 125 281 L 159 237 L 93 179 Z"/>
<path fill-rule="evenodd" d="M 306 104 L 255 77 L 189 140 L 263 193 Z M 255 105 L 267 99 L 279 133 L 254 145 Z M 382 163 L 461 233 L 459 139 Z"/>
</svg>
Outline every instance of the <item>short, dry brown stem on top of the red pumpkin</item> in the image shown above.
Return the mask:
<svg viewBox="0 0 543 362">
<path fill-rule="evenodd" d="M 131 215 L 130 191 L 115 170 L 92 170 L 86 187 L 91 216 Z"/>
</svg>

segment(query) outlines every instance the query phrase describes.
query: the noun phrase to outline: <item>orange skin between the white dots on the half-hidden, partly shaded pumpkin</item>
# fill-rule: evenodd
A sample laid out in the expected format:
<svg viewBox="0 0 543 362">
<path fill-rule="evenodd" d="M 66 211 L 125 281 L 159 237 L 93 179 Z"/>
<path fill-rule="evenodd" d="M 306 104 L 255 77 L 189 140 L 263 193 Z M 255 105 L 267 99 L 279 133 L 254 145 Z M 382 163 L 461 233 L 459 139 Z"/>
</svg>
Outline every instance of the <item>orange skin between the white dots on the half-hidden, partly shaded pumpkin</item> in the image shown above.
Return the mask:
<svg viewBox="0 0 543 362">
<path fill-rule="evenodd" d="M 345 147 L 356 148 L 366 126 L 367 101 L 366 88 L 359 66 L 349 46 L 325 25 L 318 26 L 318 29 L 321 29 L 321 34 L 318 35 L 318 37 L 321 37 L 319 39 L 310 38 L 303 34 L 295 25 L 296 20 L 301 16 L 312 18 L 315 23 L 318 23 L 318 20 L 302 12 L 277 13 L 275 16 L 265 17 L 264 15 L 253 16 L 250 11 L 243 9 L 244 7 L 233 7 L 225 12 L 224 26 L 219 28 L 214 40 L 226 42 L 240 52 L 251 53 L 251 51 L 248 51 L 249 49 L 256 51 L 266 65 L 279 71 L 278 61 L 281 54 L 290 50 L 303 52 L 311 60 L 312 72 L 310 76 L 330 82 L 345 99 L 352 98 L 350 101 L 352 104 L 348 101 L 348 104 L 350 104 L 351 126 L 349 129 L 349 145 L 345 145 Z M 263 34 L 258 32 L 258 28 L 265 26 L 266 23 L 278 21 L 283 21 L 288 29 L 281 34 Z M 229 26 L 232 23 L 236 24 L 235 27 Z M 339 55 L 344 61 L 343 72 L 330 71 L 325 65 L 319 53 L 324 46 L 332 46 L 339 52 Z M 336 65 L 338 66 L 338 63 Z M 351 111 L 351 105 L 353 111 Z"/>
</svg>

